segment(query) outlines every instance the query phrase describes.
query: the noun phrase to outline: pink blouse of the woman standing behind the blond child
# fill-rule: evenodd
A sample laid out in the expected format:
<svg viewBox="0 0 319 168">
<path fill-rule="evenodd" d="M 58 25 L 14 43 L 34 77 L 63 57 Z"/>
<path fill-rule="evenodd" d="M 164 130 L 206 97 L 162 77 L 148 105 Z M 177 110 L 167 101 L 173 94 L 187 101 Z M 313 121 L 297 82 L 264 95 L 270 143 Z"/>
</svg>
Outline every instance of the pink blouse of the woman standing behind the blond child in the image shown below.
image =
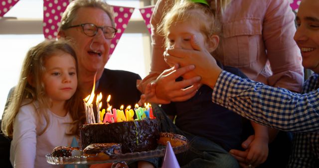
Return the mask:
<svg viewBox="0 0 319 168">
<path fill-rule="evenodd" d="M 151 73 L 138 84 L 142 92 L 169 68 L 162 55 L 164 37 L 156 30 L 173 1 L 158 0 L 154 9 Z M 304 69 L 300 49 L 293 39 L 294 20 L 289 0 L 232 0 L 221 20 L 221 54 L 216 59 L 225 66 L 239 68 L 249 79 L 300 92 Z"/>
</svg>

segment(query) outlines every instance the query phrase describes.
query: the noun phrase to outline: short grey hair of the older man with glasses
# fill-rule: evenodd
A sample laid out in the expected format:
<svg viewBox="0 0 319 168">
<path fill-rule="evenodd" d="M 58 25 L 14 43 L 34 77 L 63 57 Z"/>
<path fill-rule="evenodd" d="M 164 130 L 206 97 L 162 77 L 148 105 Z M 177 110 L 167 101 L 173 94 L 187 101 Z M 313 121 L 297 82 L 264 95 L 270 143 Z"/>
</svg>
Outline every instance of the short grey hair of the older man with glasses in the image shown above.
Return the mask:
<svg viewBox="0 0 319 168">
<path fill-rule="evenodd" d="M 81 7 L 94 7 L 104 10 L 109 15 L 112 22 L 112 26 L 115 27 L 113 8 L 112 6 L 107 4 L 105 0 L 73 0 L 70 2 L 70 4 L 66 7 L 65 11 L 63 12 L 61 18 L 61 25 L 58 29 L 59 31 L 66 30 L 69 26 L 72 26 L 71 23 L 76 17 L 76 12 Z"/>
</svg>

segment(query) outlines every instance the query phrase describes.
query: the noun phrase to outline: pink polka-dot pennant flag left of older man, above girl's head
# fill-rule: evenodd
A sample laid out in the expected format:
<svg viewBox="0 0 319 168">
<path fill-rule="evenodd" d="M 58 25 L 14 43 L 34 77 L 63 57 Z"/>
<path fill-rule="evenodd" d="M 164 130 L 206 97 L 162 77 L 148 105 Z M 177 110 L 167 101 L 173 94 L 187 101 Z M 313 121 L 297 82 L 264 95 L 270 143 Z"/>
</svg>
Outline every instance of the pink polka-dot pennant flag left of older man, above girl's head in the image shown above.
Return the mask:
<svg viewBox="0 0 319 168">
<path fill-rule="evenodd" d="M 62 14 L 69 3 L 69 0 L 43 1 L 43 34 L 46 39 L 56 38 Z"/>
</svg>

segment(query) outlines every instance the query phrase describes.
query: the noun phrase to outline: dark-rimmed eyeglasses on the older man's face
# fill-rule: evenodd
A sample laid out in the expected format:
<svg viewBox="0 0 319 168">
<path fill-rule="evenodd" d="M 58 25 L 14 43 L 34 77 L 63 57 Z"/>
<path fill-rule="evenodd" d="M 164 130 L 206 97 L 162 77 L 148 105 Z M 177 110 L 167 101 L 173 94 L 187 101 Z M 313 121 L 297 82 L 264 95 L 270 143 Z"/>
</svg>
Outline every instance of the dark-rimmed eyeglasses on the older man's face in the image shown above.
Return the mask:
<svg viewBox="0 0 319 168">
<path fill-rule="evenodd" d="M 69 26 L 68 28 L 79 27 L 79 26 L 82 27 L 84 34 L 90 37 L 95 36 L 96 33 L 98 33 L 99 29 L 101 29 L 106 39 L 112 39 L 115 37 L 115 33 L 118 31 L 114 27 L 110 27 L 110 26 L 99 27 L 92 23 L 84 23 L 84 24 Z"/>
</svg>

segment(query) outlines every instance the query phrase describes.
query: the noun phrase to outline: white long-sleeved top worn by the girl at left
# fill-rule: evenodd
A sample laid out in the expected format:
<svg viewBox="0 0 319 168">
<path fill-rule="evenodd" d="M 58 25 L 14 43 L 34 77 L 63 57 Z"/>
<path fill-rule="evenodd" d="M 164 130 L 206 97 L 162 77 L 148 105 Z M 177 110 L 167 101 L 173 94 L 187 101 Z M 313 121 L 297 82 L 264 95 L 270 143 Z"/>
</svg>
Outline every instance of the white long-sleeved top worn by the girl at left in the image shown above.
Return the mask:
<svg viewBox="0 0 319 168">
<path fill-rule="evenodd" d="M 10 147 L 10 162 L 14 168 L 59 168 L 46 162 L 45 155 L 56 146 L 70 146 L 73 136 L 67 136 L 72 122 L 69 113 L 60 117 L 47 110 L 50 123 L 46 131 L 38 135 L 46 125 L 43 116 L 35 108 L 37 102 L 24 105 L 15 117 Z M 63 168 L 63 166 L 60 166 Z"/>
</svg>

